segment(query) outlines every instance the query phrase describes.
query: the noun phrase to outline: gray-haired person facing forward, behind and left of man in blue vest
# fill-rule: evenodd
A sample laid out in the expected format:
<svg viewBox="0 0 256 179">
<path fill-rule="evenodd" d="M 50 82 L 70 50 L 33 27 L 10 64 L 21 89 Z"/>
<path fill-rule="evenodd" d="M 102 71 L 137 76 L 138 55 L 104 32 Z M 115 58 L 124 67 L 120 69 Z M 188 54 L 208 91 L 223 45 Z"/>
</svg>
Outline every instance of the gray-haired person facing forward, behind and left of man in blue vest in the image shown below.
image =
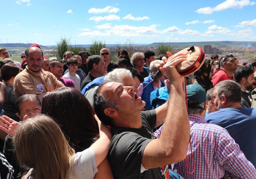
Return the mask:
<svg viewBox="0 0 256 179">
<path fill-rule="evenodd" d="M 143 78 L 148 77 L 149 69 L 144 66 L 144 54 L 141 52 L 135 52 L 131 57 L 131 63 L 136 70 L 143 76 Z"/>
</svg>

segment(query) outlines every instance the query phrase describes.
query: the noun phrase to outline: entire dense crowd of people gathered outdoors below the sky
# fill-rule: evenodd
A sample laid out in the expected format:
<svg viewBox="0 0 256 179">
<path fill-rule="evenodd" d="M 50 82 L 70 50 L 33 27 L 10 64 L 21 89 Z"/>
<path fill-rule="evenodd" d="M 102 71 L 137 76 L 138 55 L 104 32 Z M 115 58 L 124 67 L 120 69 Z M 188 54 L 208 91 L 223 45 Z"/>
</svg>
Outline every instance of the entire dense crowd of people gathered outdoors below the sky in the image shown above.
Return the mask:
<svg viewBox="0 0 256 179">
<path fill-rule="evenodd" d="M 0 57 L 1 179 L 256 178 L 256 60 L 184 78 L 186 54 Z"/>
</svg>

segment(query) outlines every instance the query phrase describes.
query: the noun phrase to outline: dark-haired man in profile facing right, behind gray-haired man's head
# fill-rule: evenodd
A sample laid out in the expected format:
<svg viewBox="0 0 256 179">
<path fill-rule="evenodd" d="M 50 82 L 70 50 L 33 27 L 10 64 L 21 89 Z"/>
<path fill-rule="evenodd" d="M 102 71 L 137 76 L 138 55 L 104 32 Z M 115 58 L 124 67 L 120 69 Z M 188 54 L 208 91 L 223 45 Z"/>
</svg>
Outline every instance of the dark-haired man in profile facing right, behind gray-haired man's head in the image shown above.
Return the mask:
<svg viewBox="0 0 256 179">
<path fill-rule="evenodd" d="M 81 91 L 88 83 L 93 81 L 95 78 L 104 76 L 108 73 L 107 65 L 104 62 L 103 58 L 99 55 L 92 55 L 88 57 L 87 69 L 89 70 L 89 73 L 82 82 Z"/>
</svg>

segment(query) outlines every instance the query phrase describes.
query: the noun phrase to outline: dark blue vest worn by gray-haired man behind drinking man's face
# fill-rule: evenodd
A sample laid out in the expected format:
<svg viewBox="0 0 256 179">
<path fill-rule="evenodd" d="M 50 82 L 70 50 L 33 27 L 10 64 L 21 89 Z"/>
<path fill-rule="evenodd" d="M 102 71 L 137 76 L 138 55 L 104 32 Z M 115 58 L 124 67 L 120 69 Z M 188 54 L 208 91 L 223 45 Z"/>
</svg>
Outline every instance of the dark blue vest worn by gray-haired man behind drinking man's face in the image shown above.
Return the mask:
<svg viewBox="0 0 256 179">
<path fill-rule="evenodd" d="M 150 81 L 152 81 L 152 78 L 149 74 L 148 77 L 144 78 L 143 87 L 145 87 Z M 161 87 L 164 87 L 165 83 L 161 79 L 160 79 L 160 81 L 161 81 Z M 141 100 L 146 102 L 145 108 L 147 110 L 152 109 L 152 106 L 150 104 L 150 94 L 152 91 L 154 91 L 154 83 L 153 82 L 150 83 L 149 85 L 147 85 L 147 87 L 143 89 L 143 93 L 141 95 Z"/>
</svg>

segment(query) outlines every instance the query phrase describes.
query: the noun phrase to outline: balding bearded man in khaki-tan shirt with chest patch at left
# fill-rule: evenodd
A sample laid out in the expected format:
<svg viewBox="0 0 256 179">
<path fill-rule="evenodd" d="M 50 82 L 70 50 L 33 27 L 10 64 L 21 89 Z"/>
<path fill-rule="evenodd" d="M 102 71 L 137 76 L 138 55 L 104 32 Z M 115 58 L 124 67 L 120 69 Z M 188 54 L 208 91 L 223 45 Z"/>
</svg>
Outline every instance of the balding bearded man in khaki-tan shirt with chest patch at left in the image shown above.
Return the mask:
<svg viewBox="0 0 256 179">
<path fill-rule="evenodd" d="M 64 87 L 52 73 L 42 69 L 43 51 L 38 47 L 30 47 L 26 52 L 26 69 L 14 79 L 13 88 L 18 99 L 23 94 L 36 94 L 42 101 L 47 92 Z"/>
</svg>

